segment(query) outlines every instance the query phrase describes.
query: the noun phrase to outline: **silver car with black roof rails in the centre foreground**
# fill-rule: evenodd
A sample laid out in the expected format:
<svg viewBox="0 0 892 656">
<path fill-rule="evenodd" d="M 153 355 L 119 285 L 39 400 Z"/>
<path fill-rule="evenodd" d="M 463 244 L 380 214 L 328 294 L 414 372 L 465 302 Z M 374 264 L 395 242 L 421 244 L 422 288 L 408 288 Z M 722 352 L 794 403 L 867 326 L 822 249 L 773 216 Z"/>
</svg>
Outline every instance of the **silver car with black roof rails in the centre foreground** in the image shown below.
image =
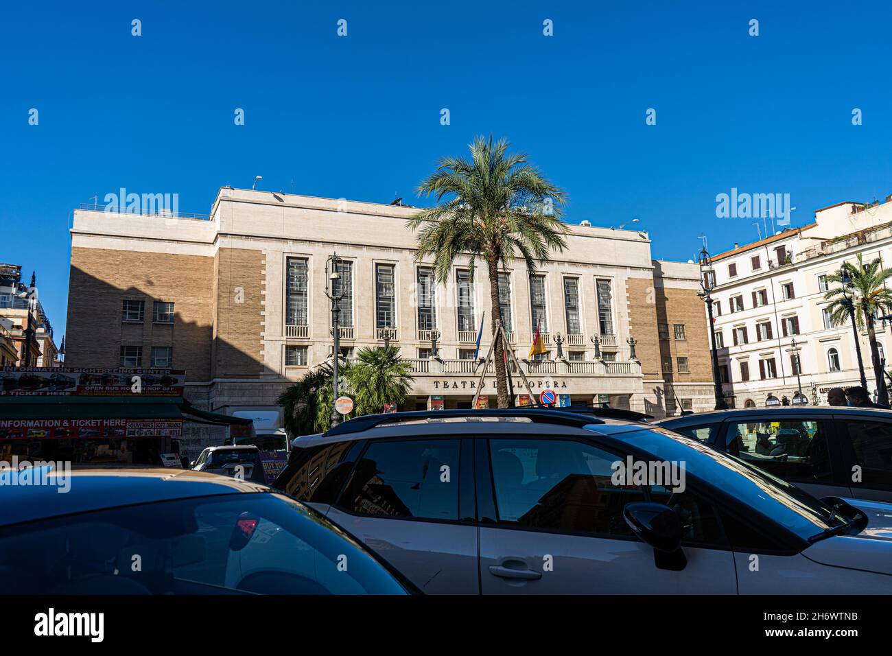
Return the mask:
<svg viewBox="0 0 892 656">
<path fill-rule="evenodd" d="M 274 486 L 425 593 L 892 593 L 892 506 L 597 411 L 359 417 L 295 439 Z"/>
</svg>

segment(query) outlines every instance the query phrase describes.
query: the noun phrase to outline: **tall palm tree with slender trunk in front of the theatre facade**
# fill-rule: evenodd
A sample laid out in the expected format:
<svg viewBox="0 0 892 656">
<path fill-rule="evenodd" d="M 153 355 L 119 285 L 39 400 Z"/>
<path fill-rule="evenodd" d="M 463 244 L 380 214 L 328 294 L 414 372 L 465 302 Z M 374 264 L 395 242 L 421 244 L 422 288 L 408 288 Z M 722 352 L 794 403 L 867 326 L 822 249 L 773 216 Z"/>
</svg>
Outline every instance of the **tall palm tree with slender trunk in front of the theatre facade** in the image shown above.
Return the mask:
<svg viewBox="0 0 892 656">
<path fill-rule="evenodd" d="M 418 186 L 419 195 L 435 195 L 437 204 L 409 219 L 409 229 L 420 230 L 417 260 L 433 255 L 435 276 L 443 285 L 459 255 L 469 256 L 472 281 L 477 258 L 486 265 L 496 388 L 499 407 L 507 408 L 513 403 L 508 397 L 507 345 L 495 334 L 501 324 L 499 268 L 519 255 L 533 272 L 537 262 L 548 260 L 551 251 L 564 250 L 566 226 L 560 216 L 566 194 L 527 162 L 526 154 L 509 154 L 505 139 L 493 143 L 492 136 L 477 137 L 469 148 L 469 160 L 443 158 L 437 170 Z"/>
</svg>

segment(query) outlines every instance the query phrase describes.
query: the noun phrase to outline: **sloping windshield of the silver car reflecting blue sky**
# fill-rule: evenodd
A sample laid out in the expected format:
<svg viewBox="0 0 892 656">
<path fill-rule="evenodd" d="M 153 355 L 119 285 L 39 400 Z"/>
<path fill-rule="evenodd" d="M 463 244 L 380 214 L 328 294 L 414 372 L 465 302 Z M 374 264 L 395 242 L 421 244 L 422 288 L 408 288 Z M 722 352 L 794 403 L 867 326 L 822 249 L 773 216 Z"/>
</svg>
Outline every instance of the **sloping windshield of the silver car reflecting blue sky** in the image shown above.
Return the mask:
<svg viewBox="0 0 892 656">
<path fill-rule="evenodd" d="M 597 425 L 589 428 L 598 430 Z M 665 428 L 649 428 L 615 437 L 650 453 L 657 461 L 680 463 L 685 472 L 721 487 L 805 540 L 845 526 L 853 519 L 798 487 L 692 437 Z"/>
</svg>

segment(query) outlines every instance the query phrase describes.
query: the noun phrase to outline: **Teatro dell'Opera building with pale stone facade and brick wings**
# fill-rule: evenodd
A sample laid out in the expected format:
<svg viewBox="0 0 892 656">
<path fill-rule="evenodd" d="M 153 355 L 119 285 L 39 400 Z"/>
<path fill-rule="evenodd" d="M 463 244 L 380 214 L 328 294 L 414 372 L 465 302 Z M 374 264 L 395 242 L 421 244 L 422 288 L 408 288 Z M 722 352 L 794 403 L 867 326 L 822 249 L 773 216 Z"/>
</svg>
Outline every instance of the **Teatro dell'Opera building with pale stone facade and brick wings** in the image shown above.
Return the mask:
<svg viewBox="0 0 892 656">
<path fill-rule="evenodd" d="M 277 411 L 285 386 L 331 356 L 336 252 L 344 355 L 397 345 L 415 377 L 403 409 L 467 407 L 481 324 L 481 356 L 491 343 L 489 280 L 463 259 L 435 281 L 406 226 L 415 212 L 229 187 L 203 217 L 78 209 L 66 365 L 182 369 L 199 408 Z M 533 394 L 664 416 L 713 406 L 698 281 L 692 263 L 652 260 L 646 233 L 569 226 L 552 262 L 500 271 L 500 310 Z M 536 328 L 548 353 L 526 361 Z M 480 391 L 495 403 L 491 365 Z"/>
</svg>

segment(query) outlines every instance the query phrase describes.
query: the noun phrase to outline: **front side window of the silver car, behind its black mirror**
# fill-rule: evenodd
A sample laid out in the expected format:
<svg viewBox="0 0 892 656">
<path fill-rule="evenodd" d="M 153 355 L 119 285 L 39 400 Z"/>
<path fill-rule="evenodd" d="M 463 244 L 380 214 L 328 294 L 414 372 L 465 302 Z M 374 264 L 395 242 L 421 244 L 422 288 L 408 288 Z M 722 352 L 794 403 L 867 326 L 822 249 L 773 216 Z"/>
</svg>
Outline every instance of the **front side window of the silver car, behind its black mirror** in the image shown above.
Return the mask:
<svg viewBox="0 0 892 656">
<path fill-rule="evenodd" d="M 581 442 L 490 440 L 500 524 L 633 536 L 626 503 L 646 501 L 640 486 L 615 486 L 619 460 Z"/>
</svg>

